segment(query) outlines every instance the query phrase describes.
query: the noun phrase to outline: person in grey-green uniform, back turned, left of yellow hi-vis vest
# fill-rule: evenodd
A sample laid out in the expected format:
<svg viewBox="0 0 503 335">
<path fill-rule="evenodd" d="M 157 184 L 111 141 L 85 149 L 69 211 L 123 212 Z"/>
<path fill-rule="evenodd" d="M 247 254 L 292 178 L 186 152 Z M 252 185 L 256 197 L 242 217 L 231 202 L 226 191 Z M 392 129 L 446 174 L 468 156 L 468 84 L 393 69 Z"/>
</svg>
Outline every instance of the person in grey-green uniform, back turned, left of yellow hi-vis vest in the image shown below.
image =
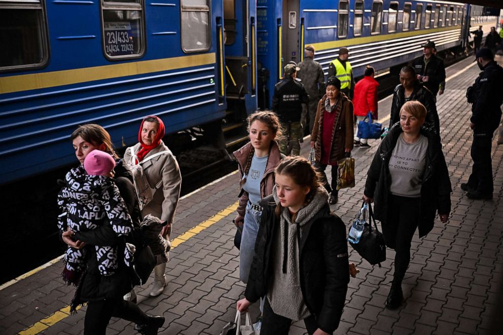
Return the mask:
<svg viewBox="0 0 503 335">
<path fill-rule="evenodd" d="M 309 104 L 307 113 L 302 114 L 301 122 L 303 126 L 302 134 L 308 135 L 313 130 L 316 108 L 321 98 L 320 89 L 325 81 L 325 74 L 321 64 L 314 59 L 314 47 L 308 45 L 304 49 L 304 60 L 298 64 L 300 70 L 297 78 L 302 80 L 302 84 L 309 94 Z"/>
</svg>

